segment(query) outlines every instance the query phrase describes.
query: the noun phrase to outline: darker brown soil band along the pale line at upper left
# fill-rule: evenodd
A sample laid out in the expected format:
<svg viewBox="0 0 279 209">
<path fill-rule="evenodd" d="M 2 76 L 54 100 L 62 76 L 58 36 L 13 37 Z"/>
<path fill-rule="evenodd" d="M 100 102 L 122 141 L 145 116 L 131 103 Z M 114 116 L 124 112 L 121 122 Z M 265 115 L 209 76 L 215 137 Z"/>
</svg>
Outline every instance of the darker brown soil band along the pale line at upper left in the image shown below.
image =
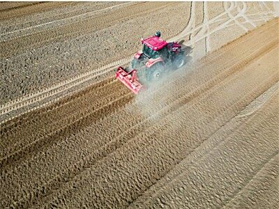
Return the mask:
<svg viewBox="0 0 279 209">
<path fill-rule="evenodd" d="M 86 20 L 82 20 L 82 24 L 80 22 L 73 22 L 69 25 L 62 25 L 41 32 L 38 31 L 38 33 L 33 33 L 30 36 L 23 36 L 0 42 L 0 49 L 6 49 L 2 50 L 2 56 L 3 58 L 7 58 L 20 50 L 24 51 L 30 48 L 33 49 L 35 47 L 49 44 L 53 41 L 67 40 L 69 38 L 79 36 L 80 34 L 105 29 L 108 26 L 112 26 L 116 22 L 130 20 L 148 13 L 154 13 L 157 10 L 161 10 L 174 4 L 174 2 L 156 2 L 156 6 L 150 6 L 151 3 L 152 2 L 142 3 L 140 6 L 130 5 L 128 6 L 129 8 L 113 10 L 109 14 L 100 13 L 96 15 L 100 17 L 89 17 Z M 57 30 L 58 28 L 59 30 Z"/>
</svg>

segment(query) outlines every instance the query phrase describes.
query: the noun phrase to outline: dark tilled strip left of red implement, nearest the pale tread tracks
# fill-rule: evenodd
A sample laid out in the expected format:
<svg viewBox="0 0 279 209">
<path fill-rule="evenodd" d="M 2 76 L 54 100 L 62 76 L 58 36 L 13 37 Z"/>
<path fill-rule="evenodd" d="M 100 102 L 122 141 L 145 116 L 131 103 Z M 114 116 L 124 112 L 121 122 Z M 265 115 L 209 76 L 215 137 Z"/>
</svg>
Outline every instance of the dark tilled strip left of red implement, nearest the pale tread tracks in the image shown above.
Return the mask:
<svg viewBox="0 0 279 209">
<path fill-rule="evenodd" d="M 113 100 L 119 95 L 114 89 L 119 88 L 121 85 L 115 80 L 107 85 L 100 86 L 98 89 L 86 89 L 86 91 L 80 93 L 80 95 L 67 98 L 59 108 L 56 108 L 54 104 L 54 106 L 49 109 L 41 110 L 38 114 L 35 114 L 35 116 L 30 116 L 29 118 L 32 118 L 32 120 L 27 121 L 23 127 L 17 125 L 16 131 L 8 130 L 8 132 L 5 132 L 5 130 L 3 130 L 3 134 L 1 135 L 1 139 L 3 139 L 3 144 L 1 144 L 1 157 L 8 155 L 7 152 L 9 152 L 10 149 L 13 150 L 15 147 L 21 148 L 25 142 L 27 142 L 24 142 L 24 140 L 31 141 L 36 139 L 36 137 L 43 135 L 43 133 L 51 132 L 52 129 L 55 129 L 57 126 L 63 125 L 68 118 L 77 117 L 82 112 L 102 107 L 106 104 L 107 100 L 108 102 Z M 109 88 L 107 89 L 106 87 Z M 84 105 L 84 101 L 82 101 L 82 99 L 84 100 L 83 97 L 85 94 L 86 105 Z M 51 114 L 50 110 L 52 111 Z M 25 135 L 27 132 L 32 134 L 29 134 L 27 137 Z M 20 141 L 17 141 L 19 137 Z"/>
</svg>

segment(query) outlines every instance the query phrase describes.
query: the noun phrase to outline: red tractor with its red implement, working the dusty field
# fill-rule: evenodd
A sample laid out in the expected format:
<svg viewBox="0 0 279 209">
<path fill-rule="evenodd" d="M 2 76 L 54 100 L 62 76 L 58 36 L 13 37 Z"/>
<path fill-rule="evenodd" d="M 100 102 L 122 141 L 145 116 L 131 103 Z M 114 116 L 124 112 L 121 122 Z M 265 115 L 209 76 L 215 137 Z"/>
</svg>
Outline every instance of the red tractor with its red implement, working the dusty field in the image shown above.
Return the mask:
<svg viewBox="0 0 279 209">
<path fill-rule="evenodd" d="M 141 40 L 142 51 L 135 53 L 132 68 L 119 67 L 116 78 L 137 94 L 144 87 L 160 79 L 167 71 L 181 68 L 190 58 L 190 47 L 178 42 L 166 42 L 155 36 Z"/>
</svg>

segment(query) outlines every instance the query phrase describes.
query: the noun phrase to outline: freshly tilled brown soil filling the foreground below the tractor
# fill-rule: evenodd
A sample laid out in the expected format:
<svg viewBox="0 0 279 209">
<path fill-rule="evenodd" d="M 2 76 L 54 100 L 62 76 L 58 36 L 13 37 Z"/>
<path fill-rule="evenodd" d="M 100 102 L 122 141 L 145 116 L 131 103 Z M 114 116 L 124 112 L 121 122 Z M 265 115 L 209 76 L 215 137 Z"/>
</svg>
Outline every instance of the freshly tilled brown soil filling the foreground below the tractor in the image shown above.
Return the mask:
<svg viewBox="0 0 279 209">
<path fill-rule="evenodd" d="M 136 100 L 108 79 L 4 124 L 2 206 L 241 208 L 265 198 L 273 206 L 278 89 L 238 114 L 278 82 L 277 26 L 259 27 Z M 170 171 L 179 175 L 164 178 Z M 271 181 L 269 194 L 248 189 L 262 183 L 255 175 Z"/>
</svg>

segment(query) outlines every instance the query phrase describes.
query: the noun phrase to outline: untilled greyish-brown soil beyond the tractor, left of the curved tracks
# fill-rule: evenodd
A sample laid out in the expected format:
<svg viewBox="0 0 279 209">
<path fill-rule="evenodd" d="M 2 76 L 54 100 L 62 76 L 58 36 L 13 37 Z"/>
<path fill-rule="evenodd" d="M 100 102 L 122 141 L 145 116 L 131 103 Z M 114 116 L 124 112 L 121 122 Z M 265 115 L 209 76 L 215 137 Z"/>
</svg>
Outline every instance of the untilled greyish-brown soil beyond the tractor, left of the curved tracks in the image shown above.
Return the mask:
<svg viewBox="0 0 279 209">
<path fill-rule="evenodd" d="M 12 27 L 23 27 L 23 31 L 6 28 L 7 33 L 15 33 L 0 41 L 3 75 L 0 104 L 130 56 L 138 50 L 140 38 L 156 30 L 162 31 L 165 39 L 175 36 L 186 26 L 190 8 L 190 2 L 126 3 L 108 10 L 96 4 L 56 8 L 56 13 L 61 13 L 56 17 L 58 20 L 77 18 L 57 25 L 52 25 L 53 13 L 50 12 L 42 13 L 42 20 L 35 15 L 8 22 Z M 119 3 L 107 3 L 105 8 L 116 4 Z M 92 13 L 94 11 L 96 13 Z M 79 16 L 88 13 L 92 14 Z M 181 16 L 185 18 L 181 20 Z M 30 28 L 38 24 L 46 25 Z"/>
</svg>

